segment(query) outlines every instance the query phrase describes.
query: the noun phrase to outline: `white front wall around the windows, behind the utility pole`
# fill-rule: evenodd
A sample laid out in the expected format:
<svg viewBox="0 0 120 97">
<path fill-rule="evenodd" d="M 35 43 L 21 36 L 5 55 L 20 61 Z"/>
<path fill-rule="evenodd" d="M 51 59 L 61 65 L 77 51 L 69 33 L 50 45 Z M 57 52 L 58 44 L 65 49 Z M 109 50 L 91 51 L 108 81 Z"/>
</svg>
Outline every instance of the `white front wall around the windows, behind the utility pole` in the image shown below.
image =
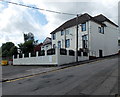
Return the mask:
<svg viewBox="0 0 120 97">
<path fill-rule="evenodd" d="M 81 26 L 78 28 L 78 49 L 82 48 L 82 36 L 88 34 L 88 22 L 86 22 L 86 31 L 81 31 Z M 70 47 L 66 48 L 67 50 L 76 50 L 76 26 L 67 28 L 69 30 L 69 34 L 66 35 L 66 40 L 70 39 Z M 58 41 L 61 41 L 61 48 L 65 48 L 65 33 L 61 36 L 61 31 L 56 32 L 56 39 L 52 39 L 52 47 L 53 44 L 58 47 Z"/>
</svg>

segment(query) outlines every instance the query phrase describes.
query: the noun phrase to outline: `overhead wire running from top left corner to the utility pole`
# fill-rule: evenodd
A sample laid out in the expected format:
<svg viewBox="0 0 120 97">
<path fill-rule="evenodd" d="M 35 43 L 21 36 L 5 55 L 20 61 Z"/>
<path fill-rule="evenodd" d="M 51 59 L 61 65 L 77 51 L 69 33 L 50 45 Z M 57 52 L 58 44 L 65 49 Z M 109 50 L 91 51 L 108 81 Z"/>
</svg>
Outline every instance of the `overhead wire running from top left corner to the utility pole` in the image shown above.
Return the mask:
<svg viewBox="0 0 120 97">
<path fill-rule="evenodd" d="M 15 2 L 10 2 L 10 1 L 5 1 L 5 0 L 0 0 L 0 1 L 6 2 L 6 3 L 10 3 L 10 4 L 14 4 L 14 5 L 18 5 L 18 6 L 27 7 L 27 8 L 32 8 L 32 9 L 37 9 L 37 10 L 57 13 L 57 14 L 74 15 L 74 16 L 77 15 L 77 14 L 72 14 L 72 13 L 64 13 L 64 12 L 60 12 L 60 11 L 46 10 L 46 9 L 42 9 L 42 8 L 38 8 L 38 7 L 34 7 L 34 6 L 28 6 L 28 5 L 15 3 Z"/>
</svg>

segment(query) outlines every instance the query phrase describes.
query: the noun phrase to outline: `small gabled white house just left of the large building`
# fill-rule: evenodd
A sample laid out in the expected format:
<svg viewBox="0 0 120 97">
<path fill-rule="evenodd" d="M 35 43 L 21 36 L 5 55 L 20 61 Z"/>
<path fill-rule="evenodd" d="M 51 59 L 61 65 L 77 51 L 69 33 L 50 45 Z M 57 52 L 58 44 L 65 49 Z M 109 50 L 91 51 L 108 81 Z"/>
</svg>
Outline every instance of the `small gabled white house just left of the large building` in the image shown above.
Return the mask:
<svg viewBox="0 0 120 97">
<path fill-rule="evenodd" d="M 43 41 L 43 45 L 41 46 L 41 50 L 48 50 L 52 48 L 52 41 L 51 38 L 47 37 L 44 41 Z"/>
</svg>

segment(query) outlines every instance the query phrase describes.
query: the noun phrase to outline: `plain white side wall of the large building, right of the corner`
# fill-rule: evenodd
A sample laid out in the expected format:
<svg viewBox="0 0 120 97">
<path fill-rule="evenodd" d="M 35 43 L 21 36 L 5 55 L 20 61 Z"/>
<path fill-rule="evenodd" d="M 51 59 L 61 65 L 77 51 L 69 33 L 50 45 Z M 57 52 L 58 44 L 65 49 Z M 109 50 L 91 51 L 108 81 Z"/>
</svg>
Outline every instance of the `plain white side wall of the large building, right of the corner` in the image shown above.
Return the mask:
<svg viewBox="0 0 120 97">
<path fill-rule="evenodd" d="M 104 34 L 99 33 L 99 24 L 90 21 L 89 49 L 99 57 L 99 50 L 103 50 L 103 56 L 118 52 L 118 28 L 105 22 Z"/>
</svg>

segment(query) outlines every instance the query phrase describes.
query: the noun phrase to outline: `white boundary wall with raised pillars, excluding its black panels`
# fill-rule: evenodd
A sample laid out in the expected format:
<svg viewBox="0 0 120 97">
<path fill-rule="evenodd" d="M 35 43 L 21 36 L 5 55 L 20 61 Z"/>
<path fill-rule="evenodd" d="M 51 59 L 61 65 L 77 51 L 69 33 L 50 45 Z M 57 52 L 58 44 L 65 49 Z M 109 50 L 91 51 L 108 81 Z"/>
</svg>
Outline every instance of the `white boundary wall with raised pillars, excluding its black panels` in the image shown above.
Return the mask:
<svg viewBox="0 0 120 97">
<path fill-rule="evenodd" d="M 36 57 L 31 57 L 29 53 L 29 57 L 24 58 L 24 54 L 22 58 L 14 59 L 13 56 L 13 65 L 62 65 L 67 63 L 72 63 L 76 61 L 75 56 L 70 56 L 67 50 L 67 55 L 60 55 L 60 50 L 56 48 L 55 55 L 47 55 L 47 51 L 45 51 L 45 56 L 38 56 L 38 52 L 36 53 Z M 81 56 L 78 57 L 79 61 L 89 60 L 89 57 Z"/>
</svg>

